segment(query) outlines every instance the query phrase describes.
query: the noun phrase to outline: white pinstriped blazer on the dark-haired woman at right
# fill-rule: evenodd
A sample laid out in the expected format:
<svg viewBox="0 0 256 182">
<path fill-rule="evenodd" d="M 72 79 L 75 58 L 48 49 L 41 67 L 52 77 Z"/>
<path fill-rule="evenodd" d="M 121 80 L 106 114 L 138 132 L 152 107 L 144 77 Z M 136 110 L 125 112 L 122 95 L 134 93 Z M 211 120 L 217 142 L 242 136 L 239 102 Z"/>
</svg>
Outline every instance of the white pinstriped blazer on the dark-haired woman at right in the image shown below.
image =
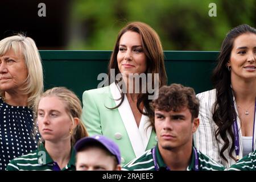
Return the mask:
<svg viewBox="0 0 256 182">
<path fill-rule="evenodd" d="M 212 114 L 213 114 L 213 105 L 216 101 L 216 89 L 208 90 L 207 92 L 202 92 L 196 95 L 200 100 L 200 110 L 199 110 L 199 119 L 200 125 L 194 134 L 194 144 L 195 147 L 200 150 L 203 154 L 208 155 L 210 158 L 215 160 L 218 163 L 223 164 L 226 168 L 229 168 L 236 161 L 230 158 L 228 151 L 231 148 L 231 144 L 227 150 L 224 151 L 224 156 L 228 159 L 226 162 L 220 157 L 220 150 L 224 144 L 224 141 L 219 137 L 220 142 L 215 138 L 215 131 L 217 130 L 217 125 L 214 123 Z M 234 97 L 233 97 L 234 100 Z M 234 105 L 237 112 L 236 101 L 234 100 Z M 238 115 L 238 114 L 237 114 Z M 256 122 L 254 122 L 254 125 Z M 240 142 L 240 152 L 239 158 L 242 159 L 243 146 L 242 146 L 242 132 L 241 132 L 241 123 L 240 119 L 237 117 L 237 125 L 239 131 L 239 142 Z M 232 141 L 229 134 L 229 141 Z M 256 126 L 254 126 L 254 136 L 256 136 Z M 256 137 L 254 137 L 254 150 L 256 146 Z M 233 156 L 236 157 L 235 151 L 233 151 Z"/>
</svg>

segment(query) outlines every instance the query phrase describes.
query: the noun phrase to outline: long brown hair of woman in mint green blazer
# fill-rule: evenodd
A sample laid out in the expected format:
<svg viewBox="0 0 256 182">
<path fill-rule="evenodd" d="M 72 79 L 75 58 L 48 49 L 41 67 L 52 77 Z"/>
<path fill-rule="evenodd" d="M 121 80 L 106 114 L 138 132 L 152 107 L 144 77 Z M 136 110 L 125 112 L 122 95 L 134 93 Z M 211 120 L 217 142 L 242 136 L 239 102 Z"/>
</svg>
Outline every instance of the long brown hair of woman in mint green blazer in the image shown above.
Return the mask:
<svg viewBox="0 0 256 182">
<path fill-rule="evenodd" d="M 128 23 L 125 27 L 122 28 L 121 31 L 119 31 L 117 40 L 115 42 L 114 51 L 112 52 L 112 55 L 109 61 L 109 78 L 111 76 L 110 69 L 115 70 L 115 76 L 118 73 L 120 73 L 118 69 L 118 63 L 117 63 L 117 54 L 119 51 L 120 39 L 122 35 L 125 34 L 125 32 L 127 31 L 137 32 L 141 36 L 142 48 L 147 57 L 146 73 L 152 73 L 152 86 L 154 86 L 154 73 L 159 74 L 159 88 L 163 85 L 166 85 L 167 75 L 166 75 L 166 69 L 164 68 L 163 48 L 162 48 L 162 44 L 160 42 L 159 36 L 153 28 L 148 26 L 148 24 L 142 23 L 142 22 Z M 110 80 L 112 79 L 109 79 L 109 84 L 111 84 Z M 117 84 L 117 82 L 118 80 L 115 80 L 115 84 Z M 143 86 L 146 86 L 146 85 L 143 85 Z M 148 95 L 149 94 L 147 91 L 146 93 L 140 93 L 137 100 L 138 110 L 145 115 L 152 114 L 152 111 L 149 105 L 150 101 L 148 100 Z M 121 102 L 119 103 L 119 105 L 111 109 L 116 109 L 117 107 L 119 107 L 122 104 L 124 98 L 125 98 L 125 94 L 121 93 L 121 98 L 120 98 Z M 144 104 L 146 113 L 143 113 L 143 110 L 139 108 L 141 103 Z"/>
</svg>

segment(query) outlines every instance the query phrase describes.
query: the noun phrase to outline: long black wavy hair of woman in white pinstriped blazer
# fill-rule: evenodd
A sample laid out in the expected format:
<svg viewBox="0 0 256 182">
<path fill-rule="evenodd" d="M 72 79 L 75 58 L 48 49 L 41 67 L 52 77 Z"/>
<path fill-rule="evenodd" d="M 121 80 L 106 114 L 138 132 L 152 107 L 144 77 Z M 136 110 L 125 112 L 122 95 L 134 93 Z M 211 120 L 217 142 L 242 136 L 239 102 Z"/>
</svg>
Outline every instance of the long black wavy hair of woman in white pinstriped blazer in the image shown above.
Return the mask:
<svg viewBox="0 0 256 182">
<path fill-rule="evenodd" d="M 230 55 L 233 49 L 234 40 L 242 34 L 256 34 L 256 29 L 247 24 L 241 24 L 233 28 L 222 42 L 220 54 L 216 68 L 214 68 L 212 81 L 213 86 L 217 91 L 217 100 L 213 107 L 213 121 L 218 126 L 215 137 L 218 140 L 218 135 L 224 140 L 224 146 L 221 148 L 220 156 L 228 161 L 224 156 L 224 151 L 230 146 L 228 135 L 232 138 L 232 146 L 229 150 L 229 156 L 236 160 L 232 155 L 234 151 L 234 133 L 232 129 L 233 115 L 236 115 L 233 104 L 233 93 L 230 88 L 231 79 L 230 72 L 227 68 L 227 63 L 230 60 Z M 231 109 L 230 109 L 231 108 Z M 220 142 L 220 140 L 218 140 Z"/>
</svg>

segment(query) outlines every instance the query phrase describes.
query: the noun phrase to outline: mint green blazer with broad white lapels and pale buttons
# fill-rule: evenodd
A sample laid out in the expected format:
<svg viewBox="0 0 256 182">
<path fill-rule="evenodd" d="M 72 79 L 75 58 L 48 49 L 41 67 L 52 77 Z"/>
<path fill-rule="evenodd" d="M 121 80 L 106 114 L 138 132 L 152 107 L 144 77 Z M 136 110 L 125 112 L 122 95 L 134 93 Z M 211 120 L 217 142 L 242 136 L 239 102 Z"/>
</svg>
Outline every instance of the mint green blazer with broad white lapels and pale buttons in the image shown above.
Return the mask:
<svg viewBox="0 0 256 182">
<path fill-rule="evenodd" d="M 152 127 L 148 127 L 150 122 L 145 115 L 142 115 L 137 126 L 126 96 L 117 109 L 108 109 L 117 106 L 120 97 L 119 87 L 114 83 L 104 88 L 86 90 L 82 94 L 81 119 L 90 136 L 104 135 L 118 144 L 123 166 L 154 147 L 157 138 Z"/>
</svg>

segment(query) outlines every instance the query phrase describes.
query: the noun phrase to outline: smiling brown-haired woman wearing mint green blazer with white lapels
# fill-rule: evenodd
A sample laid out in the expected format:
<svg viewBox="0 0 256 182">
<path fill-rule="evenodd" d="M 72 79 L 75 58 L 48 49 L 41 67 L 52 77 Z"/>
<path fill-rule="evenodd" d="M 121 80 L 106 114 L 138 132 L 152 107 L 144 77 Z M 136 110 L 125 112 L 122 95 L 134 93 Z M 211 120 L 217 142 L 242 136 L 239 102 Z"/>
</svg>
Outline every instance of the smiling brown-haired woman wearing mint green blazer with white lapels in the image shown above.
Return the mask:
<svg viewBox="0 0 256 182">
<path fill-rule="evenodd" d="M 150 26 L 133 22 L 122 28 L 108 78 L 109 86 L 84 92 L 82 121 L 89 135 L 102 134 L 118 144 L 123 166 L 157 142 L 149 103 L 167 76 L 159 36 Z"/>
</svg>

